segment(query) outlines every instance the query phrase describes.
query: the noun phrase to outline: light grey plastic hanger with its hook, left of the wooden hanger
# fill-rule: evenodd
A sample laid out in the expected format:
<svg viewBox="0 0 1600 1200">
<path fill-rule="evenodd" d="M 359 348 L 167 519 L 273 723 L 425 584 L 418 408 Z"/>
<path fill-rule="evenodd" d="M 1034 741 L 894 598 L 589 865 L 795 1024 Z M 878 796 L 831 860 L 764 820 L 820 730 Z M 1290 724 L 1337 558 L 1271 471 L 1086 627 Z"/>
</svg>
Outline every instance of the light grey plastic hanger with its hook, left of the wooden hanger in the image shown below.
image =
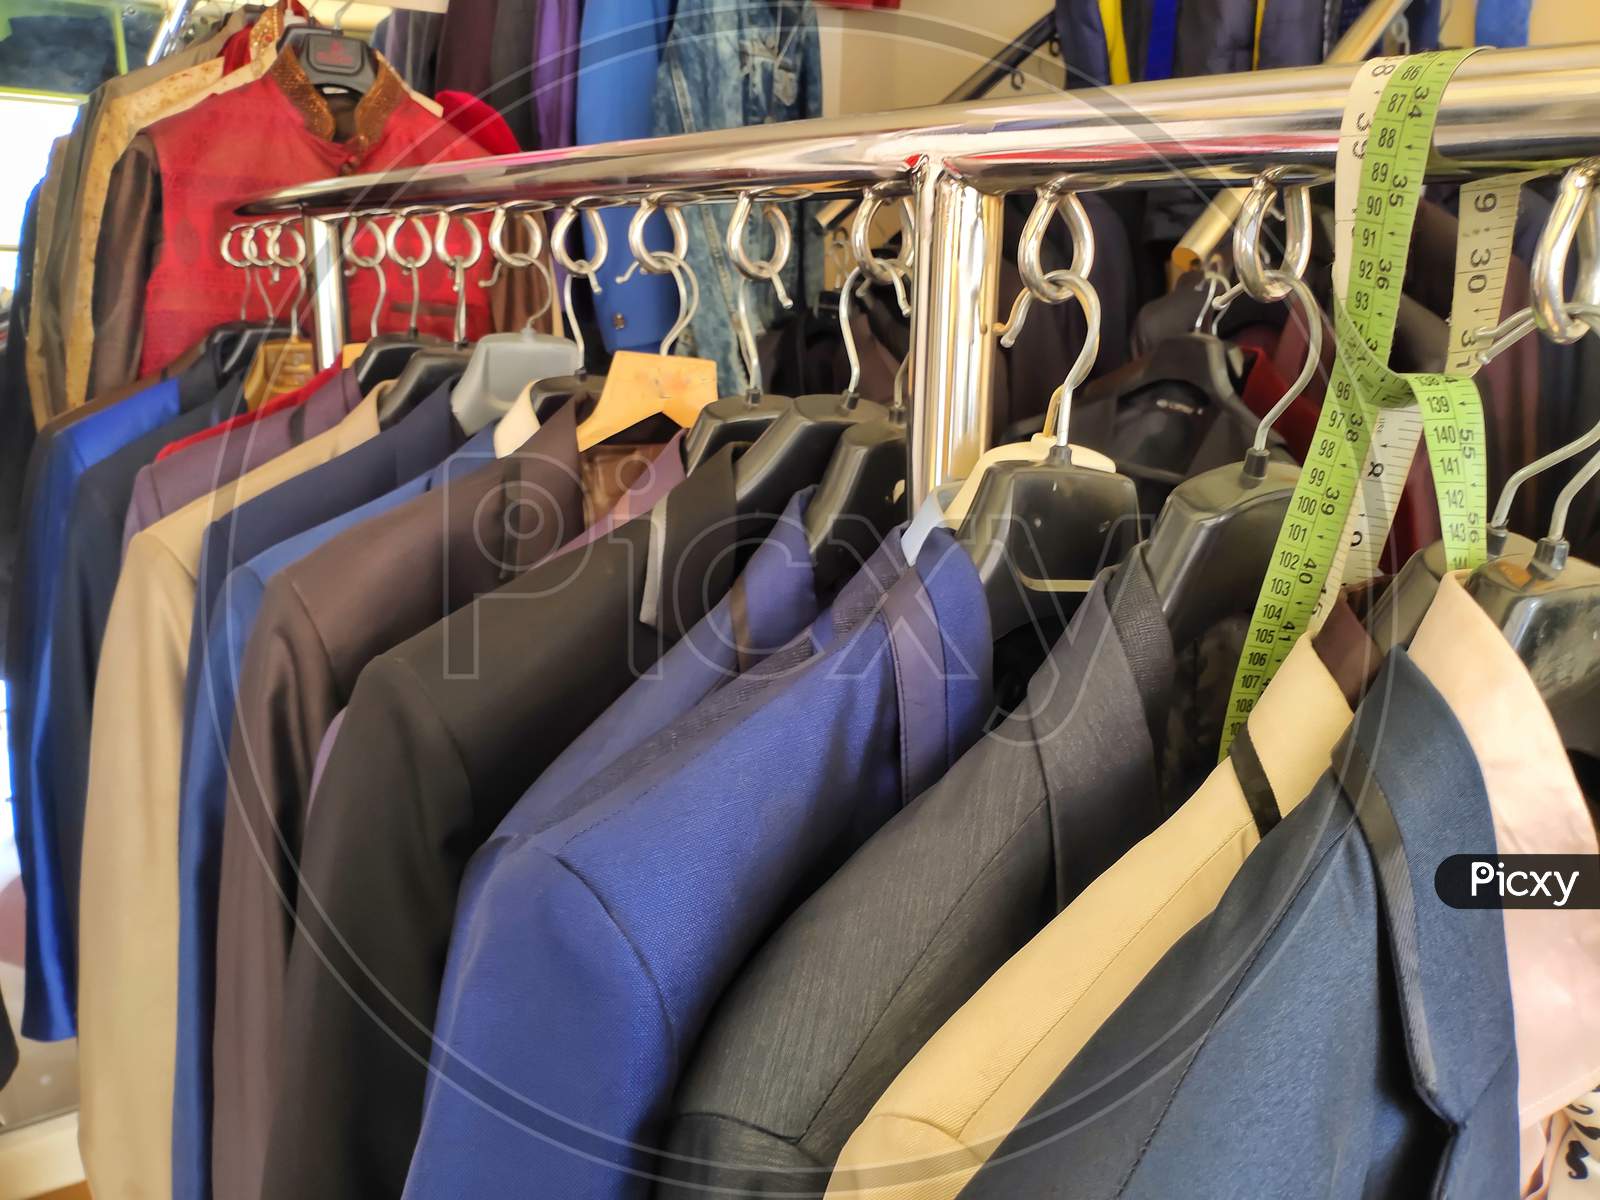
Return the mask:
<svg viewBox="0 0 1600 1200">
<path fill-rule="evenodd" d="M 517 218 L 528 232 L 531 248 L 526 251 L 510 251 L 506 246 L 507 210 L 504 205 L 494 210 L 490 219 L 490 251 L 494 254 L 494 270 L 502 267 L 522 269 L 542 266 L 544 230 L 526 210 L 520 210 Z M 440 222 L 443 222 L 440 214 Z M 466 222 L 467 229 L 477 232 L 477 226 Z M 440 226 L 443 229 L 443 224 Z M 442 238 L 435 234 L 435 243 Z M 440 246 L 440 258 L 443 250 Z M 549 291 L 546 293 L 550 294 Z M 464 299 L 458 301 L 464 306 Z M 464 312 L 458 307 L 458 314 Z M 570 374 L 582 362 L 582 349 L 568 338 L 557 338 L 549 333 L 536 333 L 530 317 L 528 323 L 515 333 L 491 333 L 477 341 L 467 370 L 450 394 L 450 411 L 456 416 L 456 424 L 467 434 L 475 434 L 506 414 L 522 390 L 534 379 Z M 456 330 L 458 339 L 464 336 L 461 322 Z"/>
</svg>

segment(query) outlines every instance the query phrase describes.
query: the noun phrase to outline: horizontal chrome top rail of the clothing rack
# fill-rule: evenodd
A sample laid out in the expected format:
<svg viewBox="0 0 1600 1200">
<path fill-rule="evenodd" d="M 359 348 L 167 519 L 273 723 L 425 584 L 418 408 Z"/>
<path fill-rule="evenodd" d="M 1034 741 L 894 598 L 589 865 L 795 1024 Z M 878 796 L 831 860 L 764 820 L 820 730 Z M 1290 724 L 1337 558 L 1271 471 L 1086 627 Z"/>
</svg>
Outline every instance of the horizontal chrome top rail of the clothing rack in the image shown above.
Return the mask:
<svg viewBox="0 0 1600 1200">
<path fill-rule="evenodd" d="M 938 157 L 986 192 L 1064 171 L 1107 182 L 1229 187 L 1267 166 L 1331 174 L 1354 66 L 1152 80 L 1048 96 L 754 125 L 632 142 L 429 163 L 346 176 L 246 202 L 243 214 L 398 205 L 635 203 L 670 194 L 778 200 L 858 194 Z M 1474 54 L 1445 91 L 1430 178 L 1600 149 L 1600 45 Z"/>
</svg>

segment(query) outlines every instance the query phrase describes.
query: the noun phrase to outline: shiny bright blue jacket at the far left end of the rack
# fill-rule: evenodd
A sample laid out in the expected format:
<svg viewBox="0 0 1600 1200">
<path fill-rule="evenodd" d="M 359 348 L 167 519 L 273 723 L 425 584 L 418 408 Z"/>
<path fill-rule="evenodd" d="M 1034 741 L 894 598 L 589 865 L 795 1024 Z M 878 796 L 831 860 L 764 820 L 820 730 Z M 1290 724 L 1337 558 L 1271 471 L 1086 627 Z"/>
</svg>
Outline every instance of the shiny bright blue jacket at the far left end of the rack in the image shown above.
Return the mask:
<svg viewBox="0 0 1600 1200">
<path fill-rule="evenodd" d="M 78 482 L 96 462 L 179 413 L 176 379 L 102 408 L 35 445 L 32 502 L 22 530 L 11 594 L 6 677 L 10 696 L 11 805 L 16 848 L 27 894 L 22 1034 L 51 1042 L 72 1037 L 75 1019 L 75 936 L 59 886 L 43 739 L 50 714 L 50 656 L 56 597 L 67 539 L 67 512 Z M 115 573 L 115 563 L 106 565 Z"/>
</svg>

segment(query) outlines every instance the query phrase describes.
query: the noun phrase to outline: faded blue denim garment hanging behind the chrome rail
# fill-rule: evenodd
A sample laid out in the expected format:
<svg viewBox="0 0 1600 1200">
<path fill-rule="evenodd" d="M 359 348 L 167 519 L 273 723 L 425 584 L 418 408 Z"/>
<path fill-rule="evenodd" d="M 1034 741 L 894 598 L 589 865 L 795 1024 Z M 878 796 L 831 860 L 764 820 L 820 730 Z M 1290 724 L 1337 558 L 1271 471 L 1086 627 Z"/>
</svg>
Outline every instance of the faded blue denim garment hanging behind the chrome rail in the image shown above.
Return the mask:
<svg viewBox="0 0 1600 1200">
<path fill-rule="evenodd" d="M 653 133 L 702 133 L 771 125 L 822 115 L 822 62 L 816 13 L 800 0 L 678 0 L 672 34 L 661 51 Z M 701 302 L 683 333 L 685 354 L 717 363 L 717 389 L 746 389 L 747 368 L 738 349 L 739 288 L 744 280 L 728 261 L 726 232 L 733 205 L 693 205 L 688 218 L 688 266 L 701 282 Z M 797 226 L 797 253 L 782 269 L 790 296 L 816 299 L 821 286 L 821 240 L 787 210 Z M 752 222 L 754 224 L 754 222 Z M 771 229 L 746 230 L 752 258 L 771 254 Z M 747 310 L 760 336 L 779 312 L 771 286 L 749 286 Z M 811 294 L 806 294 L 810 290 Z"/>
</svg>

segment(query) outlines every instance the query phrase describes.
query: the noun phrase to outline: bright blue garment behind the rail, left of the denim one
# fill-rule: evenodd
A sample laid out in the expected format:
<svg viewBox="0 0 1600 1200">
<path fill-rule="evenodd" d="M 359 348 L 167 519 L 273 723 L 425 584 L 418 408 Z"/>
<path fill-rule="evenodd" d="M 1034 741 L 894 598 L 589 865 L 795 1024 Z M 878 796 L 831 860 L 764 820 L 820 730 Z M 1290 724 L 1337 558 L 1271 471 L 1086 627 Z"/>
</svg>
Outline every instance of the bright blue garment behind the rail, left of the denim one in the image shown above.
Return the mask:
<svg viewBox="0 0 1600 1200">
<path fill-rule="evenodd" d="M 651 93 L 661 45 L 672 27 L 670 0 L 584 0 L 582 37 L 578 43 L 578 109 L 573 131 L 578 146 L 648 138 Z M 627 250 L 632 208 L 602 208 L 610 253 L 600 267 L 602 290 L 594 293 L 595 320 L 610 354 L 654 352 L 677 317 L 677 290 L 667 275 L 634 272 L 619 275 L 634 261 Z M 645 226 L 645 245 L 669 250 L 672 234 L 658 214 Z M 595 242 L 584 222 L 584 253 Z M 704 280 L 702 280 L 704 282 Z"/>
</svg>

